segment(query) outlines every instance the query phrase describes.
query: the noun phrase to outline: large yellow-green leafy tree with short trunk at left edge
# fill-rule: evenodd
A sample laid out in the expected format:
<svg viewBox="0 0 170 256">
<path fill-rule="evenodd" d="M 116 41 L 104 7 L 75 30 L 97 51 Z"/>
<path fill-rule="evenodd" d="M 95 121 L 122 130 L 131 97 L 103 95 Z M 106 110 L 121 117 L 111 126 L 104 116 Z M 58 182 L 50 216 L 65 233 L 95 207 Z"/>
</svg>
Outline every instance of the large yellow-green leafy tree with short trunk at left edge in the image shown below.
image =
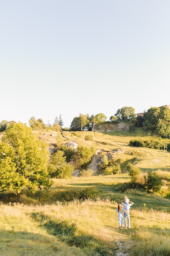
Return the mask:
<svg viewBox="0 0 170 256">
<path fill-rule="evenodd" d="M 37 139 L 26 124 L 10 125 L 0 143 L 0 188 L 20 192 L 24 187 L 49 188 L 51 180 L 47 171 L 48 144 Z"/>
</svg>

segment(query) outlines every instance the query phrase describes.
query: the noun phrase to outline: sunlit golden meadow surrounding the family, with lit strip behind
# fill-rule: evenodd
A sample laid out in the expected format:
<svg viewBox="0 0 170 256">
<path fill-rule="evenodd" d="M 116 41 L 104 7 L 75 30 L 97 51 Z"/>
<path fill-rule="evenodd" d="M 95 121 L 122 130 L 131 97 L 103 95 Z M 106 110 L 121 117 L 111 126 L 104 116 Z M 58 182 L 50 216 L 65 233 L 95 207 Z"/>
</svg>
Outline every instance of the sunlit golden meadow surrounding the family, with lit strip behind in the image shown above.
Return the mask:
<svg viewBox="0 0 170 256">
<path fill-rule="evenodd" d="M 48 204 L 34 198 L 26 204 L 23 193 L 23 204 L 1 204 L 0 255 L 117 255 L 120 244 L 129 255 L 170 255 L 170 200 L 161 195 L 127 193 L 134 202 L 131 229 L 118 228 L 117 203 L 124 193 L 117 186 L 128 180 L 127 174 L 54 179 L 48 193 L 96 187 L 101 196 Z"/>
</svg>

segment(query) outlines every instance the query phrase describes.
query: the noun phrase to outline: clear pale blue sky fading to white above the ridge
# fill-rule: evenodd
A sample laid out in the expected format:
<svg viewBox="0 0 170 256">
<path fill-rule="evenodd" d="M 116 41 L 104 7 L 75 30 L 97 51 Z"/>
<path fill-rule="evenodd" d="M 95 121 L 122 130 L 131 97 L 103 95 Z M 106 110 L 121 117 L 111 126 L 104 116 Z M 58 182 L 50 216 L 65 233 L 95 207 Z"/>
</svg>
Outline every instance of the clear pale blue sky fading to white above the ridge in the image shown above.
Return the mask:
<svg viewBox="0 0 170 256">
<path fill-rule="evenodd" d="M 0 121 L 170 105 L 170 0 L 0 1 Z"/>
</svg>

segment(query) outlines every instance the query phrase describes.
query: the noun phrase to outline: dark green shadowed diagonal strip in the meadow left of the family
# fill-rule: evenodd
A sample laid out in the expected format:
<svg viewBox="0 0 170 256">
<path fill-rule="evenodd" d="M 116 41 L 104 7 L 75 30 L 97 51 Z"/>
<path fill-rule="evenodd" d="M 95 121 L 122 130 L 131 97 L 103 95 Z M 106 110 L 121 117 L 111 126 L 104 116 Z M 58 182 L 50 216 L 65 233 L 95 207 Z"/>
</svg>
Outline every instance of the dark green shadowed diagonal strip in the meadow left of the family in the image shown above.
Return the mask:
<svg viewBox="0 0 170 256">
<path fill-rule="evenodd" d="M 32 213 L 32 218 L 36 222 L 40 222 L 40 227 L 45 228 L 50 235 L 56 236 L 58 240 L 61 240 L 70 247 L 78 247 L 85 253 L 88 252 L 88 255 L 91 256 L 115 255 L 116 245 L 106 243 L 92 235 L 81 234 L 75 224 L 68 224 L 66 221 L 59 220 L 53 221 L 47 216 L 39 215 L 38 213 Z"/>
</svg>

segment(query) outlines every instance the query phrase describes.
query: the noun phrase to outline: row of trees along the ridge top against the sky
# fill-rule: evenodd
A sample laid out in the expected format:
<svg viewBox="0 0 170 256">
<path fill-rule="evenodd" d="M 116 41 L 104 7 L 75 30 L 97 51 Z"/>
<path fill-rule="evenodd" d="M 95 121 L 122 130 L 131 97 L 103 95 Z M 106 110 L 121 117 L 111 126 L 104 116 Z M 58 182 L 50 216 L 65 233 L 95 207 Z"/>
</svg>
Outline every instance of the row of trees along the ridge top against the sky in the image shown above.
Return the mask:
<svg viewBox="0 0 170 256">
<path fill-rule="evenodd" d="M 99 113 L 97 115 L 84 115 L 79 114 L 78 117 L 74 117 L 69 128 L 64 128 L 64 122 L 60 114 L 59 118 L 56 117 L 53 124 L 44 124 L 42 119 L 35 119 L 31 117 L 29 120 L 29 126 L 33 130 L 40 129 L 51 129 L 55 131 L 70 130 L 70 131 L 84 131 L 92 130 L 93 124 L 102 123 L 119 123 L 127 122 L 130 127 L 143 127 L 144 130 L 155 132 L 163 138 L 170 137 L 170 108 L 168 106 L 149 108 L 148 111 L 144 111 L 143 116 L 137 116 L 135 114 L 135 109 L 132 107 L 123 107 L 117 110 L 115 115 L 110 117 L 110 121 L 106 121 L 107 117 L 104 113 Z M 2 120 L 0 123 L 0 131 L 4 131 L 10 124 L 15 123 L 15 121 Z"/>
</svg>

